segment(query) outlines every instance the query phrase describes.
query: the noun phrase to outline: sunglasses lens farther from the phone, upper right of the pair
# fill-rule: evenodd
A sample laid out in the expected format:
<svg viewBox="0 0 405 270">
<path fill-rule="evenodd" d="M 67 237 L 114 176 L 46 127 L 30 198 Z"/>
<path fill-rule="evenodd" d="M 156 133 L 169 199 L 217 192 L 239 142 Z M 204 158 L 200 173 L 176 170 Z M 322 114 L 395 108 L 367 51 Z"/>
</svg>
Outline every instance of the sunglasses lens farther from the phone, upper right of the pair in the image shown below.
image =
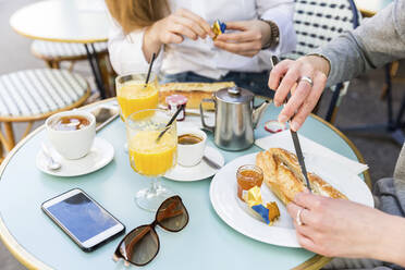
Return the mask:
<svg viewBox="0 0 405 270">
<path fill-rule="evenodd" d="M 157 213 L 159 225 L 163 229 L 177 232 L 188 222 L 188 213 L 179 196 L 163 201 Z"/>
</svg>

